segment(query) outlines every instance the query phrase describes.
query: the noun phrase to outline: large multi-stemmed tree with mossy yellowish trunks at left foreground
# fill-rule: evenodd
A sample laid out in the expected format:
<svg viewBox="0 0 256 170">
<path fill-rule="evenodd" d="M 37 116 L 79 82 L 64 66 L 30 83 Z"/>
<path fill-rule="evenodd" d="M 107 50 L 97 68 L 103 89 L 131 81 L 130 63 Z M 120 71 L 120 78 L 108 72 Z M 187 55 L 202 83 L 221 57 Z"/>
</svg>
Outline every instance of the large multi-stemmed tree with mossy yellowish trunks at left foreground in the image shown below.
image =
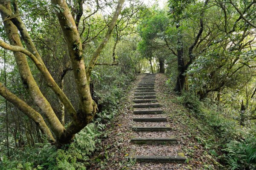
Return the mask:
<svg viewBox="0 0 256 170">
<path fill-rule="evenodd" d="M 22 101 L 8 89 L 6 89 L 6 87 L 1 83 L 0 95 L 2 95 L 4 98 L 6 98 L 6 100 L 11 102 L 24 114 L 31 118 L 35 124 L 38 125 L 41 132 L 47 135 L 49 141 L 62 145 L 72 142 L 74 135 L 82 130 L 87 124 L 89 124 L 98 111 L 97 104 L 93 101 L 90 94 L 90 74 L 93 67 L 95 66 L 100 52 L 105 47 L 111 36 L 113 28 L 116 24 L 116 20 L 118 19 L 119 13 L 121 12 L 124 0 L 118 1 L 116 11 L 114 12 L 112 20 L 108 25 L 108 30 L 105 34 L 105 37 L 93 53 L 87 69 L 84 63 L 84 58 L 82 56 L 82 42 L 78 32 L 79 21 L 81 19 L 83 10 L 78 10 L 78 17 L 76 17 L 75 22 L 75 19 L 73 18 L 65 0 L 51 0 L 51 3 L 53 6 L 61 8 L 61 10 L 55 10 L 55 12 L 63 32 L 65 42 L 67 44 L 76 83 L 76 92 L 79 96 L 77 101 L 79 103 L 79 108 L 77 110 L 74 109 L 73 105 L 62 90 L 62 82 L 60 86 L 58 86 L 58 84 L 47 70 L 47 67 L 45 66 L 40 54 L 35 47 L 35 44 L 33 43 L 32 38 L 29 35 L 29 32 L 26 29 L 26 26 L 20 18 L 17 3 L 15 1 L 11 3 L 7 0 L 0 0 L 0 13 L 10 44 L 0 40 L 0 46 L 13 51 L 17 68 L 20 72 L 20 77 L 24 87 L 29 93 L 30 98 L 34 104 L 40 108 L 40 113 Z M 82 1 L 80 8 L 82 8 Z M 21 35 L 22 40 L 26 45 L 26 49 L 23 47 L 19 35 Z M 52 89 L 63 107 L 67 110 L 70 117 L 72 118 L 72 121 L 68 124 L 67 128 L 64 127 L 64 117 L 57 117 L 51 105 L 40 91 L 38 84 L 33 78 L 29 68 L 26 56 L 28 56 L 35 63 L 35 66 L 38 68 L 42 77 L 47 82 L 47 86 Z M 47 126 L 41 114 L 44 114 L 47 118 L 49 127 Z M 52 132 L 54 133 L 55 137 L 53 137 Z"/>
</svg>

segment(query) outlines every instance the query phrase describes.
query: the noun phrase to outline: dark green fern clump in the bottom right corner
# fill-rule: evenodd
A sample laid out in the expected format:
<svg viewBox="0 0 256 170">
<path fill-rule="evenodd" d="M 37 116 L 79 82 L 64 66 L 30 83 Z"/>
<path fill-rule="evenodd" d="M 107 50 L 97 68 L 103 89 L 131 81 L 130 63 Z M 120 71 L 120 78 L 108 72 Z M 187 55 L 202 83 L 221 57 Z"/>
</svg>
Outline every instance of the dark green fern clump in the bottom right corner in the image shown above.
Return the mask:
<svg viewBox="0 0 256 170">
<path fill-rule="evenodd" d="M 232 170 L 256 169 L 256 137 L 240 141 L 230 141 L 223 149 L 227 153 L 225 159 Z"/>
</svg>

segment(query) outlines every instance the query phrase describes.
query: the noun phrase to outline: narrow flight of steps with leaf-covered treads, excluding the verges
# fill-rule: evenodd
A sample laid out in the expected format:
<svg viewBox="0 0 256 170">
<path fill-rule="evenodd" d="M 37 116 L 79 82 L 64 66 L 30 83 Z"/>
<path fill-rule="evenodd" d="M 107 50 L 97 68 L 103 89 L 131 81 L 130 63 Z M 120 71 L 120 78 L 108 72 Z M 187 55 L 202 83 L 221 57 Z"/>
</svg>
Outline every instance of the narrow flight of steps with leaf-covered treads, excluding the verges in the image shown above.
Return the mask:
<svg viewBox="0 0 256 170">
<path fill-rule="evenodd" d="M 175 148 L 177 138 L 169 135 L 175 127 L 170 127 L 163 116 L 154 86 L 155 74 L 145 74 L 134 92 L 132 130 L 136 136 L 131 138 L 134 146 L 130 156 L 137 162 L 184 162 L 184 153 Z"/>
</svg>

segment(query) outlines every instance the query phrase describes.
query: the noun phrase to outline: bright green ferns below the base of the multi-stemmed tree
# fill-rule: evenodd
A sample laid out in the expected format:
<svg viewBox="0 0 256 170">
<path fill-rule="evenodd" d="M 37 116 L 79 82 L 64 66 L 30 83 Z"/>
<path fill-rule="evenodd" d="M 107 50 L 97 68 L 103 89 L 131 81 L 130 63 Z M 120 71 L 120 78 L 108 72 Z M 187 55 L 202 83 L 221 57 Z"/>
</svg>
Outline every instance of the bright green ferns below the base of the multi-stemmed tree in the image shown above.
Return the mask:
<svg viewBox="0 0 256 170">
<path fill-rule="evenodd" d="M 16 150 L 16 156 L 9 159 L 3 156 L 1 170 L 86 170 L 87 161 L 96 149 L 97 139 L 105 125 L 91 123 L 76 134 L 74 142 L 62 149 L 49 143 L 36 144 Z"/>
</svg>

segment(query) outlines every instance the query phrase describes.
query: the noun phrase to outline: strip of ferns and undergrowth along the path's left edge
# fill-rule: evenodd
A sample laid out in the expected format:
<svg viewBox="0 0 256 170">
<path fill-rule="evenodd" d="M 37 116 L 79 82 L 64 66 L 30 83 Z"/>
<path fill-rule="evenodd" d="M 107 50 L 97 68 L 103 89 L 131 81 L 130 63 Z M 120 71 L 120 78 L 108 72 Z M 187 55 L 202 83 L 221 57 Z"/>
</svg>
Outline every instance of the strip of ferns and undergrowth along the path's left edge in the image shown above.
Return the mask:
<svg viewBox="0 0 256 170">
<path fill-rule="evenodd" d="M 35 144 L 35 147 L 16 148 L 9 158 L 0 154 L 0 170 L 86 170 L 89 156 L 105 136 L 105 127 L 118 113 L 119 98 L 124 95 L 127 86 L 112 86 L 107 93 L 96 92 L 100 96 L 102 111 L 97 113 L 92 123 L 76 134 L 73 143 L 58 149 L 45 139 L 43 143 Z"/>
</svg>

